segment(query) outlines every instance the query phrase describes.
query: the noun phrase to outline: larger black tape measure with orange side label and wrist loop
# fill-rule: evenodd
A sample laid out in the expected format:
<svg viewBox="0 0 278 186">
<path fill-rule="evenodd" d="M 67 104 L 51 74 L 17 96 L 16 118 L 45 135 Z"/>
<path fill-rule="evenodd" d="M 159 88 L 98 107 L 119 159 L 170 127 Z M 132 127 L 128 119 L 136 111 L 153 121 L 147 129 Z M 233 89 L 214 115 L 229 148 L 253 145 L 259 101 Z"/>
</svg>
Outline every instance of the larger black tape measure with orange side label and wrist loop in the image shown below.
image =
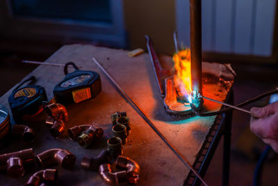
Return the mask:
<svg viewBox="0 0 278 186">
<path fill-rule="evenodd" d="M 67 67 L 72 65 L 74 72 L 68 73 Z M 64 67 L 65 78 L 54 88 L 56 102 L 61 104 L 79 103 L 95 98 L 101 92 L 101 79 L 97 72 L 79 70 L 72 62 Z"/>
</svg>

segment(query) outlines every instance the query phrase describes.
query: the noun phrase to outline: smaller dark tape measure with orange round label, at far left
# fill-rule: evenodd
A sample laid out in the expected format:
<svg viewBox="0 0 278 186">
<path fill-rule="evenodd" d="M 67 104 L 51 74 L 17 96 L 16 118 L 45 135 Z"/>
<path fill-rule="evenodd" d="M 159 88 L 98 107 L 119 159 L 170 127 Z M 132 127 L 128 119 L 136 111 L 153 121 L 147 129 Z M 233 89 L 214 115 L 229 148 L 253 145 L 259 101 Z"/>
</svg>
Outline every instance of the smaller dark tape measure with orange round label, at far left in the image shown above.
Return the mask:
<svg viewBox="0 0 278 186">
<path fill-rule="evenodd" d="M 42 102 L 47 101 L 47 94 L 42 86 L 28 85 L 20 88 L 22 84 L 29 81 L 35 82 L 35 77 L 32 76 L 19 84 L 8 98 L 16 123 L 22 123 L 22 121 L 39 114 L 43 111 Z"/>
</svg>

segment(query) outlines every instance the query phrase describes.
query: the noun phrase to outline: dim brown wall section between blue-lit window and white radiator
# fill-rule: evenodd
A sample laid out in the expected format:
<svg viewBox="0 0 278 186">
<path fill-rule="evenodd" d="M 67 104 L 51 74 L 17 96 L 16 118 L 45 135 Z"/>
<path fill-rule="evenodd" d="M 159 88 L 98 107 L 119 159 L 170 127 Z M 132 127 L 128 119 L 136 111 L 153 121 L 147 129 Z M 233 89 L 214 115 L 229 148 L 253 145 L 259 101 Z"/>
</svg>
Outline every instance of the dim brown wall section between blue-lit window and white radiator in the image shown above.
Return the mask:
<svg viewBox="0 0 278 186">
<path fill-rule="evenodd" d="M 145 35 L 154 41 L 158 54 L 174 52 L 173 31 L 176 28 L 175 1 L 124 0 L 124 19 L 129 47 L 147 49 Z"/>
</svg>

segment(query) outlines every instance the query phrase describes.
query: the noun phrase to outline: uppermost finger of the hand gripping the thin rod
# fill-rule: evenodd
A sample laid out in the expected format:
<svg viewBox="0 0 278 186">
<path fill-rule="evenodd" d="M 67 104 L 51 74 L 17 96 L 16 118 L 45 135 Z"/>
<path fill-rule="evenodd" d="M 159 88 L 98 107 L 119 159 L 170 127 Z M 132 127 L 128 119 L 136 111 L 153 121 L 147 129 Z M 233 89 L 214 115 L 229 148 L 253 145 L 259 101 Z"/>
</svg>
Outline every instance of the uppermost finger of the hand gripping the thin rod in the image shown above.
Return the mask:
<svg viewBox="0 0 278 186">
<path fill-rule="evenodd" d="M 263 118 L 275 114 L 278 111 L 278 102 L 268 104 L 265 107 L 252 107 L 250 114 L 254 118 Z"/>
</svg>

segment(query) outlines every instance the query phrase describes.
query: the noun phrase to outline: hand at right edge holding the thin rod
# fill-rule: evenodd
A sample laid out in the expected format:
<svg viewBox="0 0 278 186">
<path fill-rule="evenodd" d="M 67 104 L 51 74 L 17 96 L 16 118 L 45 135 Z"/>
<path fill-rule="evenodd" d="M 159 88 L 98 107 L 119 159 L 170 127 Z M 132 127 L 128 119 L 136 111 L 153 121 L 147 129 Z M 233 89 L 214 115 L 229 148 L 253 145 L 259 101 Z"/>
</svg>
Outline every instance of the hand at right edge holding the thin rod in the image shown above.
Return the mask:
<svg viewBox="0 0 278 186">
<path fill-rule="evenodd" d="M 278 102 L 251 110 L 250 130 L 278 153 Z"/>
</svg>

